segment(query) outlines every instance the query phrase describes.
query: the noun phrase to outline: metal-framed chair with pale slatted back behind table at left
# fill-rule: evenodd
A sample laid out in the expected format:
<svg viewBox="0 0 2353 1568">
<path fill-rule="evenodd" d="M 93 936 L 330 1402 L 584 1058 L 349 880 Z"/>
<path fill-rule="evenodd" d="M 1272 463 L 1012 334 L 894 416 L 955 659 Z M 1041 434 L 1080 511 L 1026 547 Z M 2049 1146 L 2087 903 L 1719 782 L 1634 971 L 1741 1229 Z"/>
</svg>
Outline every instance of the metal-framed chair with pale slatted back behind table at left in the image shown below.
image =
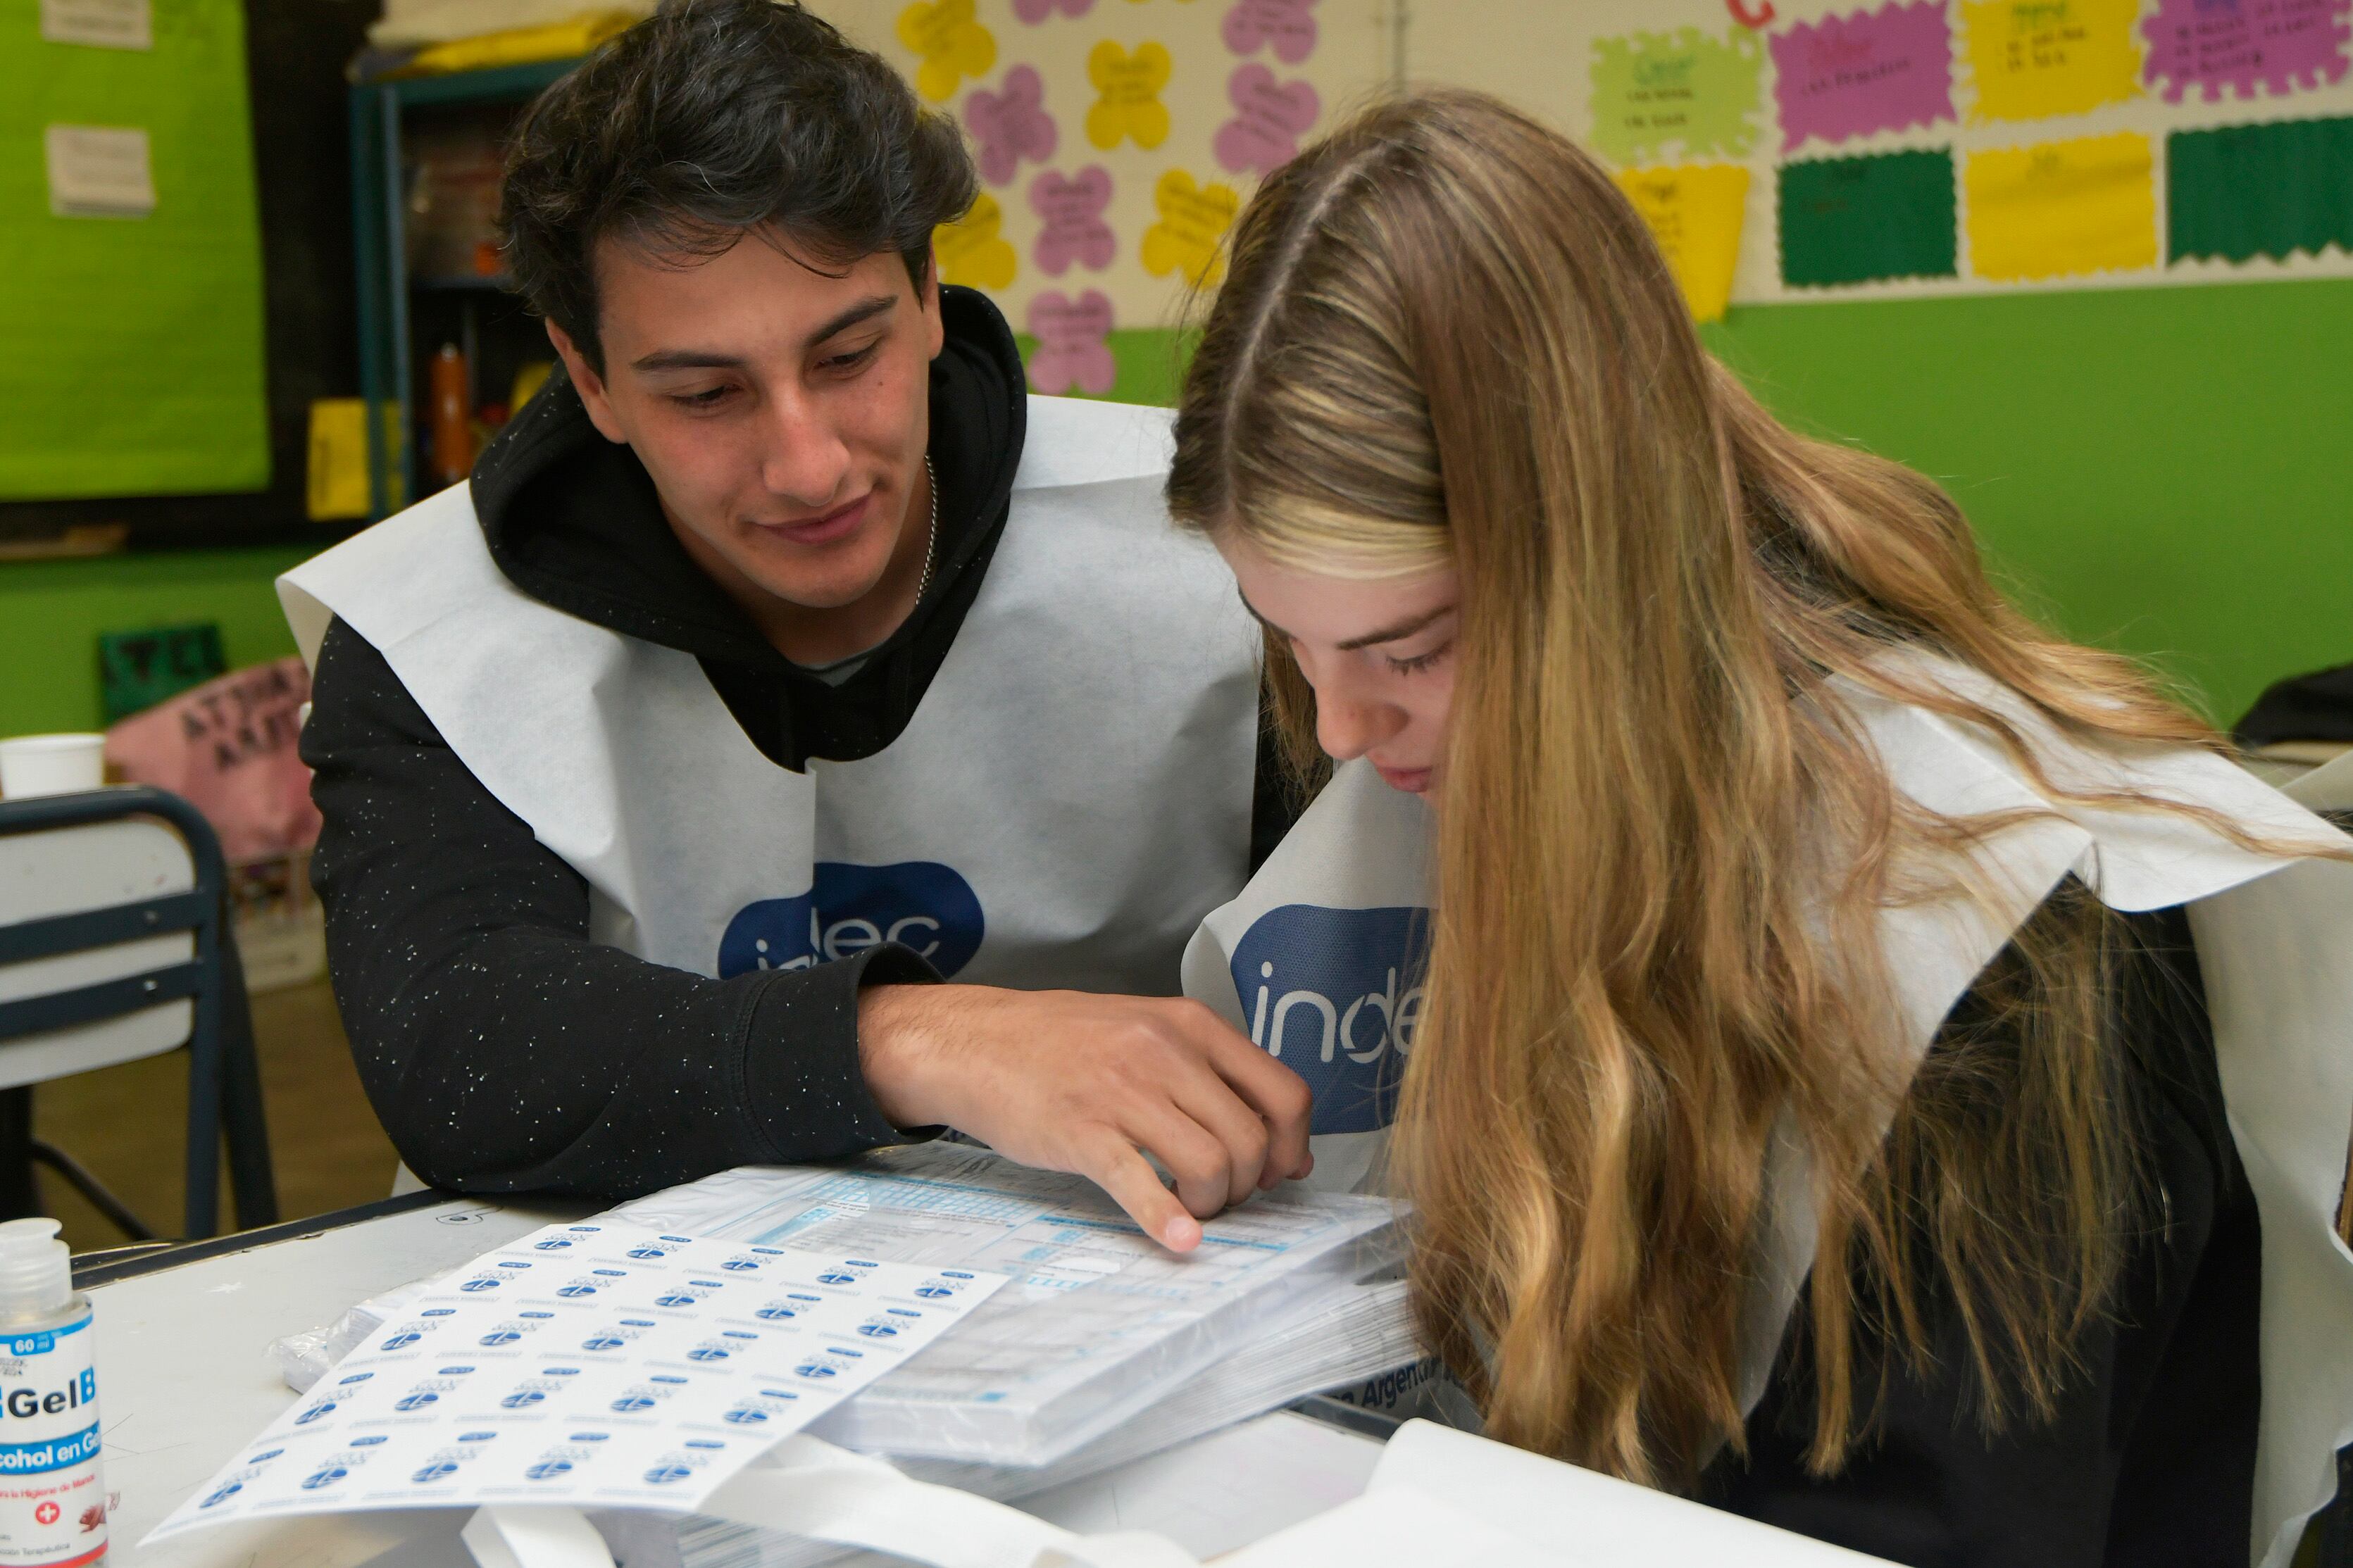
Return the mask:
<svg viewBox="0 0 2353 1568">
<path fill-rule="evenodd" d="M 33 1086 L 188 1048 L 186 1237 L 219 1229 L 221 1133 L 238 1227 L 278 1220 L 261 1070 L 221 844 L 141 785 L 0 799 L 0 1215 L 35 1213 L 45 1164 L 134 1239 L 73 1157 L 33 1138 Z"/>
</svg>

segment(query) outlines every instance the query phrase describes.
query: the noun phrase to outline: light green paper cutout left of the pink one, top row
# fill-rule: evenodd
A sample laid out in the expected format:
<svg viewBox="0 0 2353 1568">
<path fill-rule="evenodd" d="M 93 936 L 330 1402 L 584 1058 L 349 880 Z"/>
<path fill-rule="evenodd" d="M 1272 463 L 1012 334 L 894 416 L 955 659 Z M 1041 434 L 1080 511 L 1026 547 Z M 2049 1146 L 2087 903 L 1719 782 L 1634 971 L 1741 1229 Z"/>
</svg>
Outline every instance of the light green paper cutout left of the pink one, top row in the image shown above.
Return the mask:
<svg viewBox="0 0 2353 1568">
<path fill-rule="evenodd" d="M 1748 28 L 1593 40 L 1593 150 L 1617 165 L 1748 158 L 1765 45 Z"/>
</svg>

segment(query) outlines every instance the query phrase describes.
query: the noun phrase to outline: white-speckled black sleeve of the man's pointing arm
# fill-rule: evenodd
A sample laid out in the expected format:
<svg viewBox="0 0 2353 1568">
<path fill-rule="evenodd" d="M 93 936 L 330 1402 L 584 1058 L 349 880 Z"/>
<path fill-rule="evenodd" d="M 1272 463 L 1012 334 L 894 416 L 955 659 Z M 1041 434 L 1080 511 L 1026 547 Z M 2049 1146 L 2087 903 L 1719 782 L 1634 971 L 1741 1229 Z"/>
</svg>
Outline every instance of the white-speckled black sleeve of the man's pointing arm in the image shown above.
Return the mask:
<svg viewBox="0 0 2353 1568">
<path fill-rule="evenodd" d="M 588 884 L 341 621 L 301 757 L 334 999 L 419 1178 L 628 1197 L 906 1143 L 859 1074 L 856 994 L 932 978 L 915 954 L 711 980 L 588 940 Z"/>
</svg>

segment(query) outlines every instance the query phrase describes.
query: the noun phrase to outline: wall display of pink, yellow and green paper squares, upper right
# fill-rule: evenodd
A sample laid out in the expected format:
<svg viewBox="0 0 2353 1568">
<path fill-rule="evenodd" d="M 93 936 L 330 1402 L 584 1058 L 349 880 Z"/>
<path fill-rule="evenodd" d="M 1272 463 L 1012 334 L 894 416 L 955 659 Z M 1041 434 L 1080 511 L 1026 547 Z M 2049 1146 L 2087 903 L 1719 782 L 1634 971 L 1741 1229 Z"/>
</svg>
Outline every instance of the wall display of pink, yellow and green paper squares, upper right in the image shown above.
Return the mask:
<svg viewBox="0 0 2353 1568">
<path fill-rule="evenodd" d="M 1617 167 L 1704 320 L 2353 275 L 2353 0 L 1482 12 L 1518 47 L 1414 28 L 1414 73 L 1539 108 Z"/>
</svg>

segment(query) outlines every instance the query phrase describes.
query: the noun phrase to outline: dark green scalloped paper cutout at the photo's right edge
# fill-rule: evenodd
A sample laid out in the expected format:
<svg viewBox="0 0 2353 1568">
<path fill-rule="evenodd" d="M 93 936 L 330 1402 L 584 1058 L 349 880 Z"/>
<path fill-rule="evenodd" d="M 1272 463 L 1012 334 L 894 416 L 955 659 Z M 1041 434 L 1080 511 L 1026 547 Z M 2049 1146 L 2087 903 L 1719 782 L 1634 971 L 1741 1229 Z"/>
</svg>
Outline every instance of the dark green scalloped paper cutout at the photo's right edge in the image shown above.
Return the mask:
<svg viewBox="0 0 2353 1568">
<path fill-rule="evenodd" d="M 2353 252 L 2353 120 L 2280 120 L 2165 139 L 2169 261 Z"/>
</svg>

